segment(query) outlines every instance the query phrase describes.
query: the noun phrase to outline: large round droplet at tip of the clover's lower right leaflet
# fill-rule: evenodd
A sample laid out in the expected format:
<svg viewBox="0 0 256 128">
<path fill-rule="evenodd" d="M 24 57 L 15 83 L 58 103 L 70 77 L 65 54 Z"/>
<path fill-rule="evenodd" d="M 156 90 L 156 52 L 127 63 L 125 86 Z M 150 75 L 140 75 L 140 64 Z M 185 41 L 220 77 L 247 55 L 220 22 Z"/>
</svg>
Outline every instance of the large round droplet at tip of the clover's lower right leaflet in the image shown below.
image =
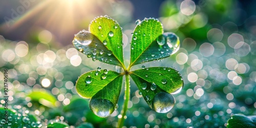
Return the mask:
<svg viewBox="0 0 256 128">
<path fill-rule="evenodd" d="M 173 95 L 160 92 L 156 94 L 152 101 L 152 109 L 158 113 L 167 113 L 170 111 L 175 104 L 175 99 Z"/>
</svg>

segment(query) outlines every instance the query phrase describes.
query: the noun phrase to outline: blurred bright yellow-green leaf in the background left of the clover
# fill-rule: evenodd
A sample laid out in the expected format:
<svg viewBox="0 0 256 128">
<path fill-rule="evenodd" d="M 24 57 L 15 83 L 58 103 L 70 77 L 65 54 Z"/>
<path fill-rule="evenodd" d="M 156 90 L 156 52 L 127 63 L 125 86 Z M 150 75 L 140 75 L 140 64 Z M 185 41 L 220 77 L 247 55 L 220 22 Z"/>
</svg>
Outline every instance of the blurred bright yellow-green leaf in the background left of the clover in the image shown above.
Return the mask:
<svg viewBox="0 0 256 128">
<path fill-rule="evenodd" d="M 37 101 L 42 105 L 48 106 L 49 108 L 55 107 L 57 99 L 48 91 L 36 90 L 28 94 L 31 100 Z"/>
</svg>

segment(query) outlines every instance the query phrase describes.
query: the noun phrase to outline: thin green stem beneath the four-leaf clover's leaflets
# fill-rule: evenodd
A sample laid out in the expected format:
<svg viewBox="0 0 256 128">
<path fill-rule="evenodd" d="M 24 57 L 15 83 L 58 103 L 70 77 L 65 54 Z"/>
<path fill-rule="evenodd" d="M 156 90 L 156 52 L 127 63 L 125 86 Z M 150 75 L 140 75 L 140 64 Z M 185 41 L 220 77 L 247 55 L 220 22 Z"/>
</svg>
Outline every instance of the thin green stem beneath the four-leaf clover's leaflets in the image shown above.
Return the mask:
<svg viewBox="0 0 256 128">
<path fill-rule="evenodd" d="M 129 99 L 130 99 L 130 78 L 129 78 L 129 74 L 125 74 L 124 104 L 121 112 L 122 117 L 118 120 L 118 127 L 123 126 L 124 117 L 126 116 Z"/>
</svg>

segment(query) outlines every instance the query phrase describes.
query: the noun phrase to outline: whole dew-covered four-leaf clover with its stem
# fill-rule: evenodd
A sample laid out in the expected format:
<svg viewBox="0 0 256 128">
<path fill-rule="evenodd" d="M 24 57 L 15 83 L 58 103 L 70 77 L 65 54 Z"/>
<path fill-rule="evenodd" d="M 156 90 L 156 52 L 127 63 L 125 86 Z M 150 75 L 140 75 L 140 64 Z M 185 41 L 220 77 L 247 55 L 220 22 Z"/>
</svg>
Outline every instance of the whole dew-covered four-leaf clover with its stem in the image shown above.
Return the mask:
<svg viewBox="0 0 256 128">
<path fill-rule="evenodd" d="M 75 35 L 73 44 L 81 53 L 110 65 L 120 66 L 124 72 L 117 73 L 100 69 L 82 74 L 76 82 L 77 93 L 90 98 L 89 106 L 99 117 L 107 117 L 118 107 L 117 102 L 125 76 L 125 95 L 122 118 L 123 125 L 127 104 L 130 99 L 130 77 L 136 83 L 148 106 L 158 113 L 173 108 L 177 94 L 183 88 L 183 79 L 178 71 L 167 67 L 152 67 L 130 71 L 131 67 L 147 61 L 166 58 L 180 47 L 179 37 L 171 32 L 163 33 L 161 22 L 155 18 L 136 21 L 132 33 L 131 62 L 126 68 L 123 62 L 122 29 L 116 20 L 105 15 L 96 17 L 89 25 L 89 31 L 82 30 Z"/>
</svg>

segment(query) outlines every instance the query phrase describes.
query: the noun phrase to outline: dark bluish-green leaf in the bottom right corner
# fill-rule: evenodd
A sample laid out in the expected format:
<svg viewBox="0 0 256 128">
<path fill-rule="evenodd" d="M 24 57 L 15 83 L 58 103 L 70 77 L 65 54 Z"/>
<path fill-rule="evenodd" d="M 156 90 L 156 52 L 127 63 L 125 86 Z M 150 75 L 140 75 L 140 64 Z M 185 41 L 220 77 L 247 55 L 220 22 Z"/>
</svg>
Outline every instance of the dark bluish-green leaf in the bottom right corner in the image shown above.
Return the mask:
<svg viewBox="0 0 256 128">
<path fill-rule="evenodd" d="M 227 127 L 256 127 L 256 116 L 234 114 L 227 121 Z"/>
</svg>

